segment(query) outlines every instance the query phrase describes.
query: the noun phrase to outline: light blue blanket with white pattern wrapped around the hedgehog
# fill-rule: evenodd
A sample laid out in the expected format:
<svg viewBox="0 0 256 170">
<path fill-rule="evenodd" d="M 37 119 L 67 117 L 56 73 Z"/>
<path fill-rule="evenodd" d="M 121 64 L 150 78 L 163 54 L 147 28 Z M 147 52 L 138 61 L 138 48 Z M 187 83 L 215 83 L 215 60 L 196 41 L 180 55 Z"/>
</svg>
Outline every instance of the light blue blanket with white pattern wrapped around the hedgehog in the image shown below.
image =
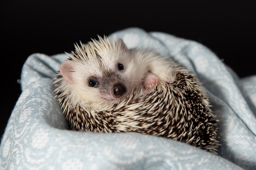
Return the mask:
<svg viewBox="0 0 256 170">
<path fill-rule="evenodd" d="M 168 55 L 197 75 L 220 120 L 219 156 L 151 135 L 67 130 L 52 86 L 67 56 L 36 53 L 22 69 L 22 93 L 1 141 L 0 169 L 256 169 L 256 76 L 238 78 L 195 41 L 139 28 L 112 36 L 129 48 Z"/>
</svg>

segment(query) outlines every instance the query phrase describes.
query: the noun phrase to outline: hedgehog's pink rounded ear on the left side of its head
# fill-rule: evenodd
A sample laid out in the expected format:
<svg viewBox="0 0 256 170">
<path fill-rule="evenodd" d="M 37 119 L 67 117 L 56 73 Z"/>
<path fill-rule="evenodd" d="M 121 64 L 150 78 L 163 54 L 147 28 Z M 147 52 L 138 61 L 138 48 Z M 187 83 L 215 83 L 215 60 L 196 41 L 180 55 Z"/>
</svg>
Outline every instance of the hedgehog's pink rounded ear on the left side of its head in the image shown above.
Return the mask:
<svg viewBox="0 0 256 170">
<path fill-rule="evenodd" d="M 73 80 L 73 74 L 72 74 L 75 72 L 75 65 L 72 61 L 70 60 L 64 61 L 60 65 L 59 71 L 65 79 L 67 79 L 70 83 L 75 84 Z"/>
</svg>

